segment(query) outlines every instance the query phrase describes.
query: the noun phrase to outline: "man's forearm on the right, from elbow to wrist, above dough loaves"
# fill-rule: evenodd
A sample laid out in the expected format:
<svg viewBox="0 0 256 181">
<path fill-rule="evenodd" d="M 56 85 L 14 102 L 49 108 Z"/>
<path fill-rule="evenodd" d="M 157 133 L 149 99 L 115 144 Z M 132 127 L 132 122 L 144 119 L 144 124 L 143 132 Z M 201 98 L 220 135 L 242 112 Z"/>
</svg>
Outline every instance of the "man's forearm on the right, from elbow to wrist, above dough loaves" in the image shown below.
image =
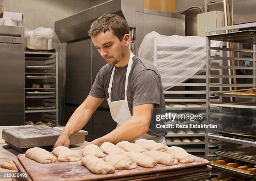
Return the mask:
<svg viewBox="0 0 256 181">
<path fill-rule="evenodd" d="M 131 118 L 129 121 L 123 123 L 118 128 L 115 128 L 107 135 L 95 139 L 92 143 L 100 146 L 105 141 L 114 144 L 120 141 L 133 141 L 148 132 L 149 124 L 150 122 L 148 121 L 138 121 L 135 118 Z"/>
</svg>

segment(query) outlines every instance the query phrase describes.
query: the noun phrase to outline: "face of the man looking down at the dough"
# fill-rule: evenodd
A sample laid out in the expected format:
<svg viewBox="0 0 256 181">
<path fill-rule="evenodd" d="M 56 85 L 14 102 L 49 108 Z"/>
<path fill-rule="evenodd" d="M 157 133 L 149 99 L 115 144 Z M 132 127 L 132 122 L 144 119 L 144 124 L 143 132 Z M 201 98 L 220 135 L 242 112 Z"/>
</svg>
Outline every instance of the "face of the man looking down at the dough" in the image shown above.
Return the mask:
<svg viewBox="0 0 256 181">
<path fill-rule="evenodd" d="M 120 41 L 111 28 L 92 36 L 92 42 L 108 64 L 115 65 L 124 58 L 124 41 Z"/>
</svg>

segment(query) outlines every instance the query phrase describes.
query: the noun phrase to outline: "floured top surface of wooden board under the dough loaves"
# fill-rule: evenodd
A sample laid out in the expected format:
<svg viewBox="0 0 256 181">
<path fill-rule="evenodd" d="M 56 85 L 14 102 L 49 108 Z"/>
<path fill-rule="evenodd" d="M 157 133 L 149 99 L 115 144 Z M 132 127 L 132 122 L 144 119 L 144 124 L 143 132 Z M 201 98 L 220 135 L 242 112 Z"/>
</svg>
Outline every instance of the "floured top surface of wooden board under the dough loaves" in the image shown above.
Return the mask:
<svg viewBox="0 0 256 181">
<path fill-rule="evenodd" d="M 74 150 L 82 157 L 82 150 Z M 195 174 L 195 172 L 201 172 L 202 169 L 206 168 L 206 165 L 209 163 L 209 161 L 196 157 L 195 161 L 192 163 L 179 163 L 178 165 L 174 166 L 165 166 L 161 164 L 157 164 L 154 166 L 154 168 L 144 168 L 141 166 L 138 166 L 135 169 L 132 170 L 115 170 L 115 173 L 110 174 L 94 174 L 90 172 L 85 166 L 81 165 L 81 161 L 74 161 L 74 162 L 59 162 L 56 161 L 54 163 L 38 163 L 36 161 L 33 161 L 27 157 L 25 157 L 25 154 L 18 155 L 18 161 L 21 163 L 21 165 L 25 168 L 25 170 L 28 172 L 30 177 L 33 179 L 33 181 L 74 181 L 74 180 L 84 180 L 84 181 L 98 181 L 98 180 L 106 180 L 106 179 L 115 179 L 120 178 L 120 180 L 123 180 L 122 177 L 129 177 L 129 176 L 138 176 L 143 174 L 151 174 L 153 175 L 159 175 L 154 173 L 164 172 L 164 171 L 173 171 L 177 169 L 183 169 L 192 167 L 189 169 L 184 169 L 186 171 L 186 174 L 189 174 L 189 171 L 191 172 L 193 168 L 196 168 L 197 166 L 202 166 L 200 169 L 197 169 L 197 171 L 192 171 L 190 175 Z M 18 168 L 18 166 L 17 166 Z M 179 175 L 184 175 L 184 171 L 182 173 L 179 173 Z M 180 171 L 176 171 L 180 172 Z M 208 173 L 208 171 L 205 172 Z M 172 176 L 174 176 L 172 172 Z M 127 179 L 125 179 L 127 180 Z"/>
</svg>

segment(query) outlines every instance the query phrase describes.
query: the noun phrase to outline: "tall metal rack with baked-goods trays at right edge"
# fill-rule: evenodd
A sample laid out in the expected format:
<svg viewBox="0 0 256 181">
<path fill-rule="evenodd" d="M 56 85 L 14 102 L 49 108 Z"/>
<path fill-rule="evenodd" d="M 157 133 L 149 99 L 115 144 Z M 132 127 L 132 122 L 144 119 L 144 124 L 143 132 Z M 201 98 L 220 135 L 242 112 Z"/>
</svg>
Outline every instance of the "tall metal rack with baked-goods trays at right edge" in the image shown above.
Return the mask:
<svg viewBox="0 0 256 181">
<path fill-rule="evenodd" d="M 246 30 L 243 28 L 246 28 Z M 256 162 L 253 160 L 246 160 L 235 154 L 222 153 L 223 151 L 233 151 L 238 148 L 246 148 L 249 146 L 256 147 L 256 135 L 253 135 L 250 130 L 253 126 L 256 126 L 253 122 L 255 121 L 253 115 L 256 113 L 256 97 L 248 94 L 229 93 L 235 89 L 248 90 L 256 87 L 256 30 L 249 30 L 250 28 L 255 29 L 256 23 L 232 25 L 220 28 L 207 28 L 206 123 L 210 123 L 212 116 L 217 116 L 218 118 L 213 123 L 218 125 L 218 129 L 206 130 L 205 141 L 207 147 L 205 156 L 209 160 L 233 158 L 234 160 L 241 161 L 241 163 Z M 235 31 L 231 33 L 211 34 L 212 32 L 218 33 L 223 30 Z M 228 42 L 235 43 L 234 48 L 211 47 L 211 40 L 221 41 L 223 44 Z M 241 49 L 241 45 L 245 43 L 251 45 L 251 50 Z M 220 50 L 223 56 L 210 56 L 210 50 Z M 231 58 L 226 56 L 226 54 L 230 52 L 234 52 L 234 57 Z M 249 53 L 251 58 L 245 58 L 245 56 L 242 56 L 242 53 Z M 213 65 L 213 60 L 219 60 L 220 65 Z M 234 60 L 235 66 L 229 66 L 229 60 Z M 245 66 L 244 61 L 250 61 L 250 66 Z M 219 74 L 213 74 L 213 69 L 220 70 Z M 231 71 L 228 70 L 232 69 L 236 70 L 236 74 L 229 73 Z M 244 75 L 237 75 L 237 70 L 250 70 L 251 72 L 246 72 Z M 218 83 L 212 82 L 212 78 L 218 79 Z M 230 78 L 233 79 L 233 81 L 230 82 Z M 237 83 L 234 81 L 234 78 L 236 78 Z M 220 101 L 219 103 L 211 103 L 213 89 L 215 90 L 213 92 L 214 96 L 219 99 L 222 98 L 223 101 Z M 212 113 L 210 106 L 218 108 L 218 112 Z M 215 145 L 211 145 L 209 139 L 215 140 Z M 216 150 L 213 151 L 212 148 L 215 148 Z M 234 169 L 228 169 L 218 165 L 216 166 L 215 164 L 211 165 L 214 168 L 220 169 L 222 171 L 220 174 L 230 172 L 238 175 L 255 177 L 253 174 L 245 174 Z"/>
</svg>

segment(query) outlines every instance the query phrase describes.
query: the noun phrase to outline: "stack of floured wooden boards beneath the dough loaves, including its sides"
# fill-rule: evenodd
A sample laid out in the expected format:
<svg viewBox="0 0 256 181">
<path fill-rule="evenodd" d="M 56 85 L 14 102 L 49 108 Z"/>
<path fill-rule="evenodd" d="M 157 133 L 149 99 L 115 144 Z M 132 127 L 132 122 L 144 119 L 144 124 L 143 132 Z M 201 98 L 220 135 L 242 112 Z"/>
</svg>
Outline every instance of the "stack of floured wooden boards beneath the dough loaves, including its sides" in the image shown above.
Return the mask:
<svg viewBox="0 0 256 181">
<path fill-rule="evenodd" d="M 75 150 L 82 156 L 82 150 Z M 38 163 L 25 157 L 25 154 L 18 155 L 18 160 L 14 161 L 19 171 L 26 170 L 30 176 L 28 181 L 102 181 L 102 180 L 207 180 L 210 176 L 211 167 L 207 164 L 209 161 L 195 156 L 192 163 L 179 163 L 174 166 L 165 166 L 157 164 L 154 168 L 144 168 L 138 166 L 132 170 L 115 170 L 110 174 L 94 174 L 81 161 Z"/>
</svg>

